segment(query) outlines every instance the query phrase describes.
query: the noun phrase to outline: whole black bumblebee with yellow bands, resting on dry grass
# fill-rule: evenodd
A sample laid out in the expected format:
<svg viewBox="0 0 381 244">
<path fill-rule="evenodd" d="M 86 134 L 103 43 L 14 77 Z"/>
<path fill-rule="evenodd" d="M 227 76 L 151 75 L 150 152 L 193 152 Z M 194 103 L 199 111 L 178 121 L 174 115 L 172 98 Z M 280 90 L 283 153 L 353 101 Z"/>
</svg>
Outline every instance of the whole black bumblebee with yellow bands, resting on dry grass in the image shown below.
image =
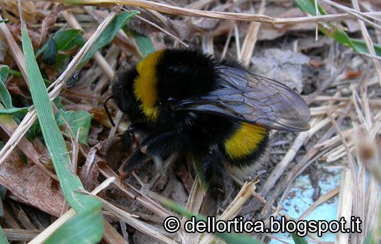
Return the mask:
<svg viewBox="0 0 381 244">
<path fill-rule="evenodd" d="M 150 53 L 118 73 L 112 96 L 131 121 L 127 133 L 146 135 L 122 171 L 154 156 L 188 154 L 213 199 L 224 197 L 227 170 L 261 168 L 269 130 L 310 128 L 310 110 L 291 88 L 190 49 Z"/>
</svg>

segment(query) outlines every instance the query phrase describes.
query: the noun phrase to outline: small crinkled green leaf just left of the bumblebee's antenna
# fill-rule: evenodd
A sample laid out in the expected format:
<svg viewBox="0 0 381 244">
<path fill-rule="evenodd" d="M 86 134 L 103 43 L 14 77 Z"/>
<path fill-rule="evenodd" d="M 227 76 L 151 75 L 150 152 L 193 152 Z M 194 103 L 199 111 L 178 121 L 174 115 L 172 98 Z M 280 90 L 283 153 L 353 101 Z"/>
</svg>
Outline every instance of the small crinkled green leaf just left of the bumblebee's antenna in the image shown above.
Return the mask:
<svg viewBox="0 0 381 244">
<path fill-rule="evenodd" d="M 93 114 L 89 114 L 86 111 L 64 111 L 62 109 L 58 110 L 55 114 L 55 121 L 58 125 L 64 125 L 65 121 L 70 125 L 71 130 L 73 131 L 75 138 L 77 138 L 77 133 L 79 132 L 78 141 L 88 145 L 88 134 L 90 130 L 90 123 Z M 65 120 L 65 121 L 64 121 Z M 66 136 L 71 136 L 71 133 L 65 131 Z M 74 138 L 74 140 L 75 140 Z"/>
</svg>

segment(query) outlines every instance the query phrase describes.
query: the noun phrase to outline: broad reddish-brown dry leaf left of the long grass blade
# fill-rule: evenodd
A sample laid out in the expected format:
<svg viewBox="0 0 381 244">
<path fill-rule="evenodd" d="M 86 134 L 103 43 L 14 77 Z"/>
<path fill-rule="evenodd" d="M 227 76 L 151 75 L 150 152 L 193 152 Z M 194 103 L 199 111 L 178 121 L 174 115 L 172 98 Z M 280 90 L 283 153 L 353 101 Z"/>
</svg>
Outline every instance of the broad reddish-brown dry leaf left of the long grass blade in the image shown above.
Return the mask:
<svg viewBox="0 0 381 244">
<path fill-rule="evenodd" d="M 0 184 L 22 199 L 25 204 L 60 217 L 64 197 L 53 188 L 53 179 L 37 165 L 28 166 L 12 151 L 0 165 Z"/>
</svg>

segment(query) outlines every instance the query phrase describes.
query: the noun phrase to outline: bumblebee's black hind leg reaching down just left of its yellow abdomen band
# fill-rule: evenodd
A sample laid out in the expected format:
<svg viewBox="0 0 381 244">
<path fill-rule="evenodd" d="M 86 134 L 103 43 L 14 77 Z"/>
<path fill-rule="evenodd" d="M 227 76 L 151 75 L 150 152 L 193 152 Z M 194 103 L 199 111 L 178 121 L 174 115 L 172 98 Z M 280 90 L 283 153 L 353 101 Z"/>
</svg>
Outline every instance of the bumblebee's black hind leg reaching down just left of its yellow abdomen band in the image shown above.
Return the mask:
<svg viewBox="0 0 381 244">
<path fill-rule="evenodd" d="M 222 153 L 217 145 L 211 145 L 203 154 L 192 152 L 192 156 L 200 182 L 207 193 L 200 213 L 215 215 L 218 203 L 224 199 L 226 189 L 226 171 Z"/>
</svg>

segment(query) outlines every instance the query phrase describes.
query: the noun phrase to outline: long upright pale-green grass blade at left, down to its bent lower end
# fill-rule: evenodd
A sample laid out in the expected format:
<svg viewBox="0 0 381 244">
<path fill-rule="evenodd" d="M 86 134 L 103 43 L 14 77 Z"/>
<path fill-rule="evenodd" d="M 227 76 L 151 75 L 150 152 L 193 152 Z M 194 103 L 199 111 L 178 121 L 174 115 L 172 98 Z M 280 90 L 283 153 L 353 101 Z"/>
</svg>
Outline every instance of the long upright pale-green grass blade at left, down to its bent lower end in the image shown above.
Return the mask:
<svg viewBox="0 0 381 244">
<path fill-rule="evenodd" d="M 96 204 L 98 200 L 75 191 L 83 188 L 83 186 L 77 175 L 73 175 L 69 170 L 71 166 L 65 141 L 57 123 L 55 123 L 47 88 L 42 80 L 38 64 L 34 59 L 34 51 L 26 27 L 21 29 L 21 36 L 27 76 L 31 87 L 31 96 L 34 106 L 36 107 L 42 134 L 44 135 L 47 148 L 51 154 L 57 177 L 60 180 L 62 191 L 64 192 L 64 197 L 70 206 L 75 208 L 78 212 L 83 207 L 86 208 L 87 206 Z"/>
</svg>

